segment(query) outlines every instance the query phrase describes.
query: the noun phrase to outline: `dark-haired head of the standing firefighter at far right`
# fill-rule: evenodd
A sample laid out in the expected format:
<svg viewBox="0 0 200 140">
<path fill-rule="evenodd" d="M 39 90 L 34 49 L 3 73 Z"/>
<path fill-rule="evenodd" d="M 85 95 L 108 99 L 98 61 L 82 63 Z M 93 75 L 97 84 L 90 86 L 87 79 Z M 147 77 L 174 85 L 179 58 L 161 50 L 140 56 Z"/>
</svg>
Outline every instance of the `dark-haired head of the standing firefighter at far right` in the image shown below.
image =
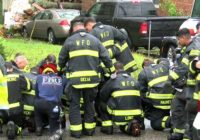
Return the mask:
<svg viewBox="0 0 200 140">
<path fill-rule="evenodd" d="M 181 47 L 185 47 L 191 42 L 190 31 L 187 28 L 180 29 L 176 34 L 178 43 Z"/>
</svg>

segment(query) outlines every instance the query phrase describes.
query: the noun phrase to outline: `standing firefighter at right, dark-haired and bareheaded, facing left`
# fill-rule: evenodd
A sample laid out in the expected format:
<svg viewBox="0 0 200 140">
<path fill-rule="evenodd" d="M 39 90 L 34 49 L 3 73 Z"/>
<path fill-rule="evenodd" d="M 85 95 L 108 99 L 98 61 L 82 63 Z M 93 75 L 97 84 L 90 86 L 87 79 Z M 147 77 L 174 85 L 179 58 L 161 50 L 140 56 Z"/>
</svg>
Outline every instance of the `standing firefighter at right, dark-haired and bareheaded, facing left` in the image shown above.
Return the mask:
<svg viewBox="0 0 200 140">
<path fill-rule="evenodd" d="M 191 123 L 197 113 L 197 100 L 194 99 L 195 76 L 189 72 L 190 62 L 198 56 L 200 50 L 199 39 L 191 38 L 188 29 L 183 28 L 177 32 L 177 39 L 182 47 L 177 66 L 170 71 L 169 80 L 175 89 L 175 98 L 172 101 L 173 133 L 169 140 L 190 139 Z"/>
</svg>

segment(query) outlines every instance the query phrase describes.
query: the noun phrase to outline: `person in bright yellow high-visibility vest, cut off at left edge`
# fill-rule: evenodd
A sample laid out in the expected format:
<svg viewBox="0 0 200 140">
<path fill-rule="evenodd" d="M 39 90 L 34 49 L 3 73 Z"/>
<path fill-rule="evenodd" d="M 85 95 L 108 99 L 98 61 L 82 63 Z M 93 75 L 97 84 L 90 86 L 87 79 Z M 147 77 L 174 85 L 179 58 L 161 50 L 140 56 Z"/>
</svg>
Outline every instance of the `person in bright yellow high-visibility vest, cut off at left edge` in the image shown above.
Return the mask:
<svg viewBox="0 0 200 140">
<path fill-rule="evenodd" d="M 3 133 L 2 125 L 8 121 L 8 90 L 5 77 L 4 59 L 0 55 L 0 134 Z"/>
</svg>

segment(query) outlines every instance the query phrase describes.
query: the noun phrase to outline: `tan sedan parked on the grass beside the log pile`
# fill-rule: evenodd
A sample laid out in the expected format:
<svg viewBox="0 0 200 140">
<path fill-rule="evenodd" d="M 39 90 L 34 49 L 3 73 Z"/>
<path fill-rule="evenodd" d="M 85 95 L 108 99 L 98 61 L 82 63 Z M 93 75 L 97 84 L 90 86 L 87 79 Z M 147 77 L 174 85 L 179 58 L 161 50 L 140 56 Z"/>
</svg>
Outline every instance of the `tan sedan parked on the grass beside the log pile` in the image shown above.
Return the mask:
<svg viewBox="0 0 200 140">
<path fill-rule="evenodd" d="M 56 43 L 58 39 L 67 38 L 71 20 L 79 15 L 80 11 L 75 9 L 44 10 L 24 24 L 22 35 L 47 39 L 49 43 Z"/>
</svg>

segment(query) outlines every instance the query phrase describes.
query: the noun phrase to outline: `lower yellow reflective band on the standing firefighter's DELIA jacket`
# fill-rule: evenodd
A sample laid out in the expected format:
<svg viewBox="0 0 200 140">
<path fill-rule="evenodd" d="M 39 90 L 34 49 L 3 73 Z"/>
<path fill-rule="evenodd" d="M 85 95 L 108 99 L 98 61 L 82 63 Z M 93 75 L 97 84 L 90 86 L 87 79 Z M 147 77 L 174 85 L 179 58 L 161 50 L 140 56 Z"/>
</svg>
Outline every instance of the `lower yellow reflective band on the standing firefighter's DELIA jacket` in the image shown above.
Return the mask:
<svg viewBox="0 0 200 140">
<path fill-rule="evenodd" d="M 72 73 L 66 74 L 67 78 L 77 78 L 77 77 L 91 77 L 91 76 L 99 76 L 99 74 L 94 70 L 88 71 L 76 71 Z"/>
</svg>

